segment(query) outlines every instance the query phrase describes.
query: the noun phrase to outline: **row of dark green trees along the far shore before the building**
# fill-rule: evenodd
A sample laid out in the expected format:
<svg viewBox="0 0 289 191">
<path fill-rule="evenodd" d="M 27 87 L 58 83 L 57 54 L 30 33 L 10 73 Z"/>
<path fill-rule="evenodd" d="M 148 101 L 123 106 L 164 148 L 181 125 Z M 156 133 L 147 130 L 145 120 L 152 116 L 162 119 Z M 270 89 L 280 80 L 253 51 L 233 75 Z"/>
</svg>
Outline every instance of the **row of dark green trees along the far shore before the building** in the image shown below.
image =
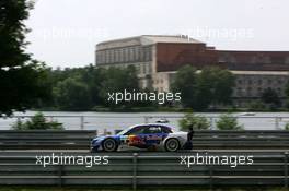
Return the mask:
<svg viewBox="0 0 289 191">
<path fill-rule="evenodd" d="M 35 103 L 34 108 L 56 110 L 131 110 L 159 107 L 193 108 L 206 110 L 218 105 L 231 103 L 234 76 L 228 70 L 205 68 L 197 72 L 185 65 L 176 72 L 172 92 L 181 93 L 181 103 L 158 105 L 153 102 L 124 102 L 115 104 L 107 100 L 108 93 L 150 92 L 141 89 L 135 67 L 108 69 L 88 65 L 72 69 L 46 69 L 46 81 L 50 89 L 49 98 Z"/>
</svg>

